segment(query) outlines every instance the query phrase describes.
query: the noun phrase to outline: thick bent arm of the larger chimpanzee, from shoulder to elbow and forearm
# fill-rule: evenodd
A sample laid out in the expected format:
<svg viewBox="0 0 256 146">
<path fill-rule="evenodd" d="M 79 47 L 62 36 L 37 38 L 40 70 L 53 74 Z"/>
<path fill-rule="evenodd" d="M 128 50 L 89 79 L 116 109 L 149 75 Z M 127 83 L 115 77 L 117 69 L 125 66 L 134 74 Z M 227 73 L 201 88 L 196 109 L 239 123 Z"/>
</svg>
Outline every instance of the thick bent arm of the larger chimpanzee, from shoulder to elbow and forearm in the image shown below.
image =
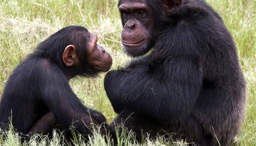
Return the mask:
<svg viewBox="0 0 256 146">
<path fill-rule="evenodd" d="M 156 61 L 161 63 L 115 70 L 105 76 L 105 90 L 116 112 L 127 108 L 172 120 L 184 118 L 192 110 L 203 80 L 200 38 L 183 27 L 179 35 L 168 39 L 155 46 L 169 50 L 157 54 L 165 57 Z M 175 42 L 176 46 L 164 42 Z"/>
</svg>

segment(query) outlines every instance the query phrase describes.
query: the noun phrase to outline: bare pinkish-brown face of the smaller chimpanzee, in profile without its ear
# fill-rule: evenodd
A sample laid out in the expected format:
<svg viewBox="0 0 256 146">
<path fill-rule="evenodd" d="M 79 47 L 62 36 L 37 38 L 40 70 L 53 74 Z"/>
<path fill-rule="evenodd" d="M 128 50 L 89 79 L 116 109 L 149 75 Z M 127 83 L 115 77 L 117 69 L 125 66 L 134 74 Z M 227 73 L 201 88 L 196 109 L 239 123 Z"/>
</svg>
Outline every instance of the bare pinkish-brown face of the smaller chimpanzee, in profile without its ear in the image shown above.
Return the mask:
<svg viewBox="0 0 256 146">
<path fill-rule="evenodd" d="M 88 41 L 87 62 L 91 68 L 106 72 L 112 65 L 112 58 L 102 46 L 97 44 L 97 35 L 91 33 L 89 33 L 89 35 L 90 39 Z"/>
</svg>

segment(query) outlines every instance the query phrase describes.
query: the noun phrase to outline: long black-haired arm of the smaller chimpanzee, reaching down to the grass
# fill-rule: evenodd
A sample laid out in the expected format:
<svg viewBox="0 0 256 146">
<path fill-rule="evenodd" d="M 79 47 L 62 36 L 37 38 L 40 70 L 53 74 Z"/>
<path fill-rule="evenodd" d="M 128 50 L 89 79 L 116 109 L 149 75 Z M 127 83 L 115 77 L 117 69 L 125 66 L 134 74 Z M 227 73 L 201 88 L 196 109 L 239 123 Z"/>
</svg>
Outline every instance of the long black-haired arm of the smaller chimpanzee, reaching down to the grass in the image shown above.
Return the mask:
<svg viewBox="0 0 256 146">
<path fill-rule="evenodd" d="M 75 122 L 74 126 L 80 133 L 91 133 L 87 128 L 92 122 L 87 113 L 88 108 L 76 97 L 64 73 L 55 64 L 49 63 L 45 66 L 41 67 L 41 82 L 38 89 L 41 91 L 42 101 L 49 111 L 53 112 L 56 122 L 64 131 Z"/>
</svg>

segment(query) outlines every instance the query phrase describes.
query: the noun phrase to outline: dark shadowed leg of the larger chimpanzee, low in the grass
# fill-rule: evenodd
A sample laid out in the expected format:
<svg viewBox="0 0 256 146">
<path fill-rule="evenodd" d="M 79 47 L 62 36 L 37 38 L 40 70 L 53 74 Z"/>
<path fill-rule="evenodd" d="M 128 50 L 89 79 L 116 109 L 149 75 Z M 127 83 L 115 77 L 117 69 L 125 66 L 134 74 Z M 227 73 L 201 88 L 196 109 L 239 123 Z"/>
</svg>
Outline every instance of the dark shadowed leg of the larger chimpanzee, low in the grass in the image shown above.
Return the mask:
<svg viewBox="0 0 256 146">
<path fill-rule="evenodd" d="M 121 128 L 118 128 L 118 126 L 121 126 Z M 202 127 L 192 115 L 189 115 L 182 123 L 166 123 L 125 109 L 108 126 L 113 145 L 117 145 L 117 135 L 120 137 L 123 132 L 127 132 L 122 126 L 127 128 L 128 132 L 130 130 L 135 132 L 138 142 L 143 141 L 144 136 L 142 134 L 148 133 L 150 134 L 150 138 L 153 139 L 163 135 L 166 138 L 172 138 L 174 141 L 186 139 L 187 142 L 191 143 L 188 144 L 189 146 L 198 144 L 201 146 L 211 145 L 211 140 L 206 141 Z"/>
</svg>

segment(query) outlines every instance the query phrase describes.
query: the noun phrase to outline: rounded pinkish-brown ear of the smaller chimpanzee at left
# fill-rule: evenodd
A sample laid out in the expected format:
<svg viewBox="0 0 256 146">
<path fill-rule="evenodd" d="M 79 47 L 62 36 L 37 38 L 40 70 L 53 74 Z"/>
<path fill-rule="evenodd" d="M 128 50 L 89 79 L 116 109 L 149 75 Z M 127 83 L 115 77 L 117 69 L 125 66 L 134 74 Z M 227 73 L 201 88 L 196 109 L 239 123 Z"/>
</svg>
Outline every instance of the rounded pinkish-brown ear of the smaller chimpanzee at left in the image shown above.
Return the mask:
<svg viewBox="0 0 256 146">
<path fill-rule="evenodd" d="M 62 60 L 66 66 L 72 66 L 75 63 L 76 56 L 76 50 L 74 45 L 68 45 L 64 53 L 62 54 Z"/>
</svg>

